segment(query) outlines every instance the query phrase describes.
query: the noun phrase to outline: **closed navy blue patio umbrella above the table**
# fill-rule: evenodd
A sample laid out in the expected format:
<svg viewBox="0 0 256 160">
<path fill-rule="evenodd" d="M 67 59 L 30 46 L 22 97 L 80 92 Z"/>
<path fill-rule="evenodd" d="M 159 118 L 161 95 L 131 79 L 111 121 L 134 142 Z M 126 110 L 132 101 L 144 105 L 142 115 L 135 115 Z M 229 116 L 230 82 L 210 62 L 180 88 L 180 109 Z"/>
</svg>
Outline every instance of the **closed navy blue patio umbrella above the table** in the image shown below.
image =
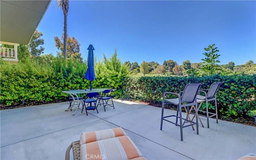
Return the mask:
<svg viewBox="0 0 256 160">
<path fill-rule="evenodd" d="M 91 90 L 92 90 L 92 81 L 95 79 L 95 72 L 94 72 L 94 55 L 93 55 L 93 46 L 92 44 L 89 45 L 87 48 L 88 51 L 88 60 L 87 60 L 87 71 L 84 75 L 84 78 L 91 81 Z"/>
</svg>

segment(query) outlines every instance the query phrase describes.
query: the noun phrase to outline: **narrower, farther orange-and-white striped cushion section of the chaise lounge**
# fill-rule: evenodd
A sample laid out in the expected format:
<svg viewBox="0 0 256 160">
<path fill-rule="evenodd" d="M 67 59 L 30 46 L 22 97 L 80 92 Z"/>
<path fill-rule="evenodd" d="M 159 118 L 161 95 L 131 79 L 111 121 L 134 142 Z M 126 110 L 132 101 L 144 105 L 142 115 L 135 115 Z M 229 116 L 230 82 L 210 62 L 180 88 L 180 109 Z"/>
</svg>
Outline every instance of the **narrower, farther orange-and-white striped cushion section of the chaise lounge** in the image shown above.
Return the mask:
<svg viewBox="0 0 256 160">
<path fill-rule="evenodd" d="M 121 127 L 94 132 L 84 132 L 80 136 L 80 145 L 125 135 L 126 134 Z"/>
</svg>

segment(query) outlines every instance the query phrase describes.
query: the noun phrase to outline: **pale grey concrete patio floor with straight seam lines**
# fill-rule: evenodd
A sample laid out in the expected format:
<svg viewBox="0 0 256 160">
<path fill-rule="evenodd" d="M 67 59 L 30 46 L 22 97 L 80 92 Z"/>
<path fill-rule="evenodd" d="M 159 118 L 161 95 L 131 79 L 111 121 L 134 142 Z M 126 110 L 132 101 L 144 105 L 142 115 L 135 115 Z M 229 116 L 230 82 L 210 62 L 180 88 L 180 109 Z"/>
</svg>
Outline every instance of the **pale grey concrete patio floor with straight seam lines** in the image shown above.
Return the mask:
<svg viewBox="0 0 256 160">
<path fill-rule="evenodd" d="M 146 159 L 237 159 L 256 152 L 256 127 L 222 120 L 216 124 L 211 118 L 210 128 L 199 124 L 199 135 L 184 128 L 180 141 L 178 126 L 164 121 L 160 131 L 161 108 L 121 100 L 114 104 L 115 109 L 104 112 L 99 107 L 99 114 L 90 110 L 88 116 L 81 110 L 75 116 L 75 109 L 65 112 L 65 102 L 2 110 L 1 159 L 64 159 L 68 145 L 79 140 L 81 132 L 118 126 Z M 206 118 L 201 119 L 207 126 Z"/>
</svg>

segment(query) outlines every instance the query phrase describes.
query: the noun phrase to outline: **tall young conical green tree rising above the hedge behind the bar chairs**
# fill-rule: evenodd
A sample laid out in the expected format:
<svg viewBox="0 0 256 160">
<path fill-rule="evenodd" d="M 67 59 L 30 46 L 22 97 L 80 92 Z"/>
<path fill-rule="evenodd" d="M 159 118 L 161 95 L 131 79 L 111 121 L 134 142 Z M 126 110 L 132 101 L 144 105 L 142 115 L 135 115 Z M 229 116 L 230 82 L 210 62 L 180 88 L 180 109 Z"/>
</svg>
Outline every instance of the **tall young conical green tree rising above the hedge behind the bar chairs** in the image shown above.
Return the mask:
<svg viewBox="0 0 256 160">
<path fill-rule="evenodd" d="M 217 50 L 218 47 L 215 47 L 215 44 L 209 45 L 207 48 L 204 48 L 206 52 L 203 54 L 206 56 L 202 62 L 202 65 L 200 66 L 200 70 L 203 71 L 205 75 L 214 75 L 218 71 L 221 71 L 220 65 L 217 63 L 220 63 L 219 57 L 220 54 L 218 54 L 219 50 Z"/>
</svg>

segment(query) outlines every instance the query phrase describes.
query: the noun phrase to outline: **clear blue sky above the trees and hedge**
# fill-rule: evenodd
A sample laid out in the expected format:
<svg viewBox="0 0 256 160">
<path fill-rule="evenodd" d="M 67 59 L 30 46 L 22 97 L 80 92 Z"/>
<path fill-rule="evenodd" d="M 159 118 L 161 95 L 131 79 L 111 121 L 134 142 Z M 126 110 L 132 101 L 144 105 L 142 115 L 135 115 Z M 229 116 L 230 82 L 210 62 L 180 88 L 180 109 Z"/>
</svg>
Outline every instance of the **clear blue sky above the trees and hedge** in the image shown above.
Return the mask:
<svg viewBox="0 0 256 160">
<path fill-rule="evenodd" d="M 38 31 L 44 53 L 56 55 L 54 36 L 63 33 L 63 12 L 52 1 Z M 256 61 L 256 1 L 69 1 L 68 35 L 81 44 L 83 59 L 109 57 L 117 48 L 124 61 L 200 62 L 215 43 L 220 62 Z"/>
</svg>

